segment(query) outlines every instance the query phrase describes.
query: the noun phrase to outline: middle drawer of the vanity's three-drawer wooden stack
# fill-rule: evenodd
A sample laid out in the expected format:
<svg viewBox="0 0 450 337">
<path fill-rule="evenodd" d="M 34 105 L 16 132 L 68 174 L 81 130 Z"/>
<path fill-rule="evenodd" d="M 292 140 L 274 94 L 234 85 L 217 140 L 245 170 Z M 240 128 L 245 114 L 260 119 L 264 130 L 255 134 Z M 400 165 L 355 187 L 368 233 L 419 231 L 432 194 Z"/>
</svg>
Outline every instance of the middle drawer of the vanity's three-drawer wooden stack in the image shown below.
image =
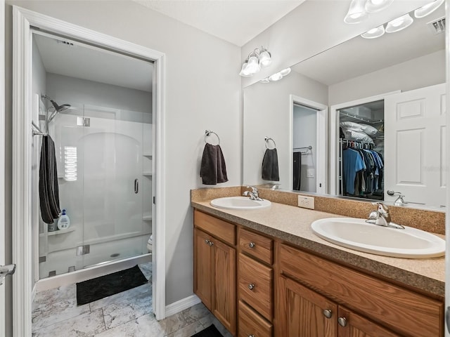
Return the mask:
<svg viewBox="0 0 450 337">
<path fill-rule="evenodd" d="M 243 253 L 238 264 L 238 298 L 271 321 L 274 270 Z"/>
</svg>

